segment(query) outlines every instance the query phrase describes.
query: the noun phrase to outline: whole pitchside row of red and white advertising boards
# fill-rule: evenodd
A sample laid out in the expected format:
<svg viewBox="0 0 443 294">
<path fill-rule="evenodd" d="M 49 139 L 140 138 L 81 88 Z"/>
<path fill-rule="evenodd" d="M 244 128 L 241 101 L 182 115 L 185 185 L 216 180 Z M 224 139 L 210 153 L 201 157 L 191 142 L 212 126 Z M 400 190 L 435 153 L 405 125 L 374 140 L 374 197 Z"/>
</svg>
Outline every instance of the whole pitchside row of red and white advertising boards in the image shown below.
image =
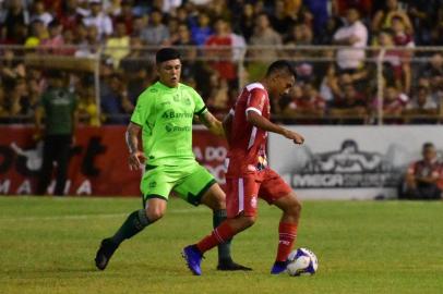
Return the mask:
<svg viewBox="0 0 443 294">
<path fill-rule="evenodd" d="M 408 164 L 426 142 L 443 156 L 440 126 L 290 126 L 302 146 L 271 134 L 270 166 L 303 199 L 396 197 Z M 142 173 L 130 171 L 123 126 L 81 127 L 71 149 L 68 195 L 137 196 Z M 0 195 L 33 195 L 41 164 L 41 143 L 28 126 L 0 126 Z M 193 151 L 225 184 L 224 138 L 194 130 Z M 49 193 L 53 183 L 49 187 Z"/>
</svg>

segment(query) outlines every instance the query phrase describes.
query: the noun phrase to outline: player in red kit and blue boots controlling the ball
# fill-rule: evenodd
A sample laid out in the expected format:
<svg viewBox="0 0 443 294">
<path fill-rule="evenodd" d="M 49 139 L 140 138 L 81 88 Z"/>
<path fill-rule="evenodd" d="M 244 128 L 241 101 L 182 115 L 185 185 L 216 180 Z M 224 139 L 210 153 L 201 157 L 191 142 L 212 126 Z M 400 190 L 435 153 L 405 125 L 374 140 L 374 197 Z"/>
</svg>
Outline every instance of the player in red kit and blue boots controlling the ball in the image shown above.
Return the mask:
<svg viewBox="0 0 443 294">
<path fill-rule="evenodd" d="M 270 65 L 261 83 L 247 85 L 235 108 L 225 118 L 224 126 L 229 142 L 226 173 L 226 206 L 228 219 L 199 243 L 183 248 L 189 269 L 202 273 L 203 254 L 251 226 L 256 219 L 258 197 L 283 211 L 278 226 L 278 252 L 271 273 L 285 271 L 287 258 L 297 236 L 301 205 L 294 191 L 266 161 L 267 132 L 280 134 L 296 144 L 304 138 L 270 121 L 270 97 L 287 93 L 295 84 L 295 73 L 286 60 Z"/>
</svg>

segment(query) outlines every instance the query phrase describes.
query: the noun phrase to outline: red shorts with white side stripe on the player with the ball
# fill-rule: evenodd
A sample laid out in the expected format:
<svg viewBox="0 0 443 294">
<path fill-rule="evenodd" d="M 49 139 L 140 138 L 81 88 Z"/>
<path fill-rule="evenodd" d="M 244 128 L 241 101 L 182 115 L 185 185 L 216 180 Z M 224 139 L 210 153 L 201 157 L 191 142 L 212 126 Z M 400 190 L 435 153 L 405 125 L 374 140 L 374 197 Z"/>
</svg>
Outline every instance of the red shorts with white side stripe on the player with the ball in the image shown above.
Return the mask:
<svg viewBox="0 0 443 294">
<path fill-rule="evenodd" d="M 270 205 L 292 189 L 272 169 L 244 173 L 241 176 L 226 175 L 226 210 L 228 218 L 240 212 L 247 217 L 256 216 L 258 197 Z"/>
</svg>

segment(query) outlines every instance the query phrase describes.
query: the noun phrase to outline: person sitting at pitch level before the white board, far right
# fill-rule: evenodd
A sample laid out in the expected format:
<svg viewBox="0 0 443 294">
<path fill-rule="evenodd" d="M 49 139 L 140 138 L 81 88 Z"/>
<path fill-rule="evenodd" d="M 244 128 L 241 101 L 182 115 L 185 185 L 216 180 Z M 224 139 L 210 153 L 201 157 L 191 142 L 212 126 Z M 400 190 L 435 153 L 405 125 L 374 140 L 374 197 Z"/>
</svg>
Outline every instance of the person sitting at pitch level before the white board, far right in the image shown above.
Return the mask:
<svg viewBox="0 0 443 294">
<path fill-rule="evenodd" d="M 443 169 L 432 143 L 424 143 L 423 158 L 412 162 L 399 188 L 398 199 L 431 200 L 442 198 Z"/>
</svg>

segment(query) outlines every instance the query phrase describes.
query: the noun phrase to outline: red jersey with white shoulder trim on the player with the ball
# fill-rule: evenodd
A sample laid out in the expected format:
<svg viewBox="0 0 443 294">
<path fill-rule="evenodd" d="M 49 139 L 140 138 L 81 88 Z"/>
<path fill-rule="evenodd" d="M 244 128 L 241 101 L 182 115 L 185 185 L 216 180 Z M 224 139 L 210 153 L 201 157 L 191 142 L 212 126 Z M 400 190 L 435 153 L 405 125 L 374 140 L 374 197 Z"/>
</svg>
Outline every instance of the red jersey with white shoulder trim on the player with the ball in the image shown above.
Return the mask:
<svg viewBox="0 0 443 294">
<path fill-rule="evenodd" d="M 238 176 L 266 167 L 267 132 L 247 121 L 247 112 L 255 111 L 270 119 L 271 106 L 267 91 L 260 83 L 243 88 L 234 108 L 232 127 L 229 138 L 227 175 Z"/>
</svg>

